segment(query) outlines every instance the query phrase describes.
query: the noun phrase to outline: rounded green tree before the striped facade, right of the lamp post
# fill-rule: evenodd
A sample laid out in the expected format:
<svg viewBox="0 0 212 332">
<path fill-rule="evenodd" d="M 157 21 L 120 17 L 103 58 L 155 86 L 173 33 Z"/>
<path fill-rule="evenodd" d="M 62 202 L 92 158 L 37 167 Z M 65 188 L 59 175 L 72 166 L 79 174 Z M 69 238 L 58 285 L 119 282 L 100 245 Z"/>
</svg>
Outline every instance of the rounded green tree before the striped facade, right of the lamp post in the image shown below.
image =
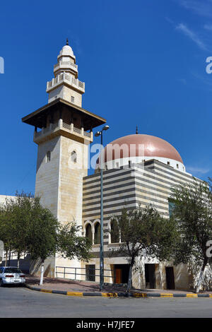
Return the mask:
<svg viewBox="0 0 212 332">
<path fill-rule="evenodd" d="M 175 222 L 160 216 L 153 206 L 135 210 L 122 209 L 120 215 L 112 218 L 113 230 L 111 235 L 117 237 L 117 230 L 121 237 L 118 249 L 113 249 L 111 256 L 122 255 L 128 257 L 129 278 L 127 291 L 131 289 L 132 269 L 138 256 L 155 256 L 160 261 L 172 257 L 172 248 L 177 239 Z"/>
</svg>

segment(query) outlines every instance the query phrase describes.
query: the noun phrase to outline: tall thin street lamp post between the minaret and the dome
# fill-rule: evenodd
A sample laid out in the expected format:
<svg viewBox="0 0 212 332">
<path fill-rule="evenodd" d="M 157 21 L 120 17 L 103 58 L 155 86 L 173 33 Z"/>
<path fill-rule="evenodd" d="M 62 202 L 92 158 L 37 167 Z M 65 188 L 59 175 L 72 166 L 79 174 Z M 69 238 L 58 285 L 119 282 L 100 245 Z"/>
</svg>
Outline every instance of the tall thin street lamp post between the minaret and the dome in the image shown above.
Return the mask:
<svg viewBox="0 0 212 332">
<path fill-rule="evenodd" d="M 102 151 L 100 153 L 100 179 L 101 179 L 101 212 L 100 212 L 100 290 L 104 285 L 104 248 L 103 248 L 103 137 L 102 133 L 104 130 L 109 129 L 109 126 L 104 126 L 101 131 L 98 131 L 95 136 L 101 136 Z"/>
</svg>

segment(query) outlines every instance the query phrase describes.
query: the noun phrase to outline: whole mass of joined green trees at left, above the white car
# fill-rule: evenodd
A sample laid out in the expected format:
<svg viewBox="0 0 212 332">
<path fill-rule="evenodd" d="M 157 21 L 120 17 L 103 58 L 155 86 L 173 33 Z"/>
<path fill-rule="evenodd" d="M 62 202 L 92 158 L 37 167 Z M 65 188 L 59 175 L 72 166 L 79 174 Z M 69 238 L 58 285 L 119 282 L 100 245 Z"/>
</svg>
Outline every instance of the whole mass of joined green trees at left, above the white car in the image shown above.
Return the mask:
<svg viewBox="0 0 212 332">
<path fill-rule="evenodd" d="M 61 225 L 49 209 L 42 206 L 40 198 L 31 194 L 16 193 L 15 198 L 6 198 L 0 206 L 0 239 L 6 252 L 30 254 L 33 260 L 44 262 L 56 252 L 69 259 L 88 260 L 90 240 L 79 235 L 76 223 Z"/>
</svg>

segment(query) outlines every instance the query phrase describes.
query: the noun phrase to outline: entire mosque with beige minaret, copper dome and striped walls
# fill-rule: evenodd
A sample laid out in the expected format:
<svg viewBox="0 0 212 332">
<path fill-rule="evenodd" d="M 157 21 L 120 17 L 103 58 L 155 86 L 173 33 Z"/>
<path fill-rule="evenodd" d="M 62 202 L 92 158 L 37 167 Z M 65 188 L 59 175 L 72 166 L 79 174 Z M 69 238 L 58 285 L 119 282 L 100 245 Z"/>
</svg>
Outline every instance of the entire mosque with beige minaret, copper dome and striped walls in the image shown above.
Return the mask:
<svg viewBox="0 0 212 332">
<path fill-rule="evenodd" d="M 49 208 L 60 223 L 76 220 L 83 235 L 93 241 L 93 259 L 88 263 L 63 259 L 59 255 L 45 262 L 45 275 L 99 280 L 100 267 L 100 167 L 88 175 L 89 146 L 93 129 L 106 120 L 82 108 L 85 83 L 78 80 L 78 66 L 67 40 L 54 65 L 54 78 L 47 82 L 48 103 L 23 117 L 34 126 L 37 144 L 35 196 Z M 153 204 L 168 218 L 172 186 L 194 179 L 186 172 L 177 150 L 162 138 L 132 134 L 112 141 L 103 158 L 103 232 L 105 282 L 126 283 L 129 263 L 126 257 L 110 257 L 119 239 L 110 236 L 112 215 L 122 208 Z M 4 202 L 6 196 L 0 196 Z M 23 259 L 24 264 L 25 259 Z M 20 262 L 21 264 L 21 262 Z M 21 265 L 20 265 L 21 267 Z M 188 266 L 160 263 L 151 257 L 136 260 L 132 285 L 139 288 L 187 289 L 192 285 Z M 39 263 L 28 269 L 39 274 Z"/>
</svg>

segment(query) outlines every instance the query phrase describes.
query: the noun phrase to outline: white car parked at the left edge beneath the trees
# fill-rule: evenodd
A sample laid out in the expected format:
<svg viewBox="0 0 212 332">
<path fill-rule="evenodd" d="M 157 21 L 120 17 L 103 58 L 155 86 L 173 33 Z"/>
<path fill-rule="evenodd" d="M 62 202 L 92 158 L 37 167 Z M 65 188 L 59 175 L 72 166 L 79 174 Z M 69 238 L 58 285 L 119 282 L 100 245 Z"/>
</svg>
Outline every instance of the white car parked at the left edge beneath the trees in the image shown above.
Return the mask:
<svg viewBox="0 0 212 332">
<path fill-rule="evenodd" d="M 0 266 L 0 286 L 4 285 L 23 285 L 25 275 L 16 266 Z"/>
</svg>

